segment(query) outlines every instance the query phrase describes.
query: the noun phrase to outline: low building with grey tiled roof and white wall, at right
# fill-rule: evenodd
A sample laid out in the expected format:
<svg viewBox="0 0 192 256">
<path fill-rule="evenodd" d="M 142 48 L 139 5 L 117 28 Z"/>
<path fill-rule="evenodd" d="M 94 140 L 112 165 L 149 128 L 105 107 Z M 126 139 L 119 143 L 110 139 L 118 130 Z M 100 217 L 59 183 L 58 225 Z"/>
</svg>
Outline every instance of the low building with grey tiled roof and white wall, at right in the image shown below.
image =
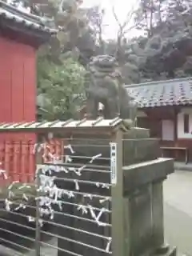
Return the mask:
<svg viewBox="0 0 192 256">
<path fill-rule="evenodd" d="M 138 126 L 159 138 L 162 154 L 192 162 L 192 78 L 126 86 L 138 102 Z"/>
</svg>

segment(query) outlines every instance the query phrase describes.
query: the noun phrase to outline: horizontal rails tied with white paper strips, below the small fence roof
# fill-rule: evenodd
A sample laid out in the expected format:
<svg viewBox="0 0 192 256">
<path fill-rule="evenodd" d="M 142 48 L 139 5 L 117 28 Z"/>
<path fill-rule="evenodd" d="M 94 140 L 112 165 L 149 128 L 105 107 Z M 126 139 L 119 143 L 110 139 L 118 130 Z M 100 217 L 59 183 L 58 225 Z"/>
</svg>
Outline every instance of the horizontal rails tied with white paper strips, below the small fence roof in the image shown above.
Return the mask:
<svg viewBox="0 0 192 256">
<path fill-rule="evenodd" d="M 2 188 L 0 244 L 25 255 L 112 254 L 110 140 L 65 138 L 62 145 L 59 160 L 46 151 L 50 162 L 43 143 L 34 145 L 34 182 Z"/>
</svg>

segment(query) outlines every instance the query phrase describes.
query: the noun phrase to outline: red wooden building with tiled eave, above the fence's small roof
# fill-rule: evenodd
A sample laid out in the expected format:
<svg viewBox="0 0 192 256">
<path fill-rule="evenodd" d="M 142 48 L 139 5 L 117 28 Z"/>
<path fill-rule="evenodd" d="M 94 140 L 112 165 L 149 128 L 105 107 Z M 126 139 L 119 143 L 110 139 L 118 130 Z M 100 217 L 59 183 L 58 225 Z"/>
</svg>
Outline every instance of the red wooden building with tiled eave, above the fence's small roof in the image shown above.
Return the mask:
<svg viewBox="0 0 192 256">
<path fill-rule="evenodd" d="M 50 38 L 41 18 L 0 1 L 0 122 L 36 117 L 36 51 Z"/>
</svg>

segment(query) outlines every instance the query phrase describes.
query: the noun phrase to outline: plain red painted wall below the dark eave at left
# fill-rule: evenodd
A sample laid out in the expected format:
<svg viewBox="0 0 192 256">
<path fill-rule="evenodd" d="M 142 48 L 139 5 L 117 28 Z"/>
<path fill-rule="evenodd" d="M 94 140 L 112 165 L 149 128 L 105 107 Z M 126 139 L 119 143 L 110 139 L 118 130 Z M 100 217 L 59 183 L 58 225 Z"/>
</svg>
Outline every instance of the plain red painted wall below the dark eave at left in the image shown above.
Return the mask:
<svg viewBox="0 0 192 256">
<path fill-rule="evenodd" d="M 30 122 L 36 116 L 35 49 L 0 38 L 0 122 Z"/>
</svg>

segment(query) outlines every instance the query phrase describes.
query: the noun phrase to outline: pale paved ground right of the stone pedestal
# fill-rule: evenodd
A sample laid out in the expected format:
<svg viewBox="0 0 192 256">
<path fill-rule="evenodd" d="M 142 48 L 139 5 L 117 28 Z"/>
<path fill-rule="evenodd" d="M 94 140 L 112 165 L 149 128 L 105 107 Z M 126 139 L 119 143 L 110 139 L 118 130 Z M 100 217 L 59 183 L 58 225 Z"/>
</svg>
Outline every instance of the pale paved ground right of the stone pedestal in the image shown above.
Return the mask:
<svg viewBox="0 0 192 256">
<path fill-rule="evenodd" d="M 164 183 L 164 200 L 166 240 L 192 256 L 192 172 L 171 174 Z"/>
</svg>

